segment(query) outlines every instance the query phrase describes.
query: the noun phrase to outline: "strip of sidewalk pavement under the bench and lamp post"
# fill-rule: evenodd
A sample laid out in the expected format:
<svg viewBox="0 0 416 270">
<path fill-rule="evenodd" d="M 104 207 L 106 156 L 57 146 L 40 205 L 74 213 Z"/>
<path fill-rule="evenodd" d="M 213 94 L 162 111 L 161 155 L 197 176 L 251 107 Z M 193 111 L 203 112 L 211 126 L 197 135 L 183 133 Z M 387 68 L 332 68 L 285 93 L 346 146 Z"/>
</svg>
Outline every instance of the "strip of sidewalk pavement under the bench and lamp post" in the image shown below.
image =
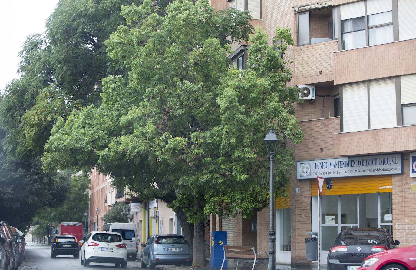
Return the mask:
<svg viewBox="0 0 416 270">
<path fill-rule="evenodd" d="M 267 270 L 268 260 L 262 260 L 255 264 L 254 270 Z M 228 269 L 234 270 L 237 266 L 237 260 L 228 259 Z M 239 270 L 251 270 L 253 267 L 253 261 L 250 260 L 240 260 L 238 262 Z M 206 267 L 189 267 L 189 266 L 174 266 L 166 265 L 163 267 L 163 270 L 210 270 L 210 264 L 207 262 Z M 317 264 L 310 265 L 285 265 L 285 264 L 276 264 L 276 270 L 317 270 Z M 319 270 L 327 270 L 327 265 L 320 265 Z"/>
</svg>

